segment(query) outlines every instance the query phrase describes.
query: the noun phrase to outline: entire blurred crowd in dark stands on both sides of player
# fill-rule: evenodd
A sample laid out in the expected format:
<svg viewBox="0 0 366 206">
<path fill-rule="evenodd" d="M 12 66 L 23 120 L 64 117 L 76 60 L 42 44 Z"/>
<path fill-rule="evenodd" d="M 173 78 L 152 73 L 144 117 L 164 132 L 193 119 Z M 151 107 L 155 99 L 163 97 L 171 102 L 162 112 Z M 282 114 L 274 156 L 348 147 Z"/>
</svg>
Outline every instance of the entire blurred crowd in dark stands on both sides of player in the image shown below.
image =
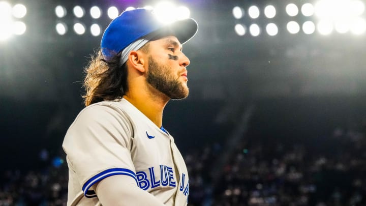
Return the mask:
<svg viewBox="0 0 366 206">
<path fill-rule="evenodd" d="M 189 205 L 366 205 L 363 128 L 296 141 L 246 135 L 223 165 L 224 141 L 189 151 Z M 66 205 L 63 161 L 38 171 L 8 170 L 0 181 L 0 205 Z"/>
</svg>

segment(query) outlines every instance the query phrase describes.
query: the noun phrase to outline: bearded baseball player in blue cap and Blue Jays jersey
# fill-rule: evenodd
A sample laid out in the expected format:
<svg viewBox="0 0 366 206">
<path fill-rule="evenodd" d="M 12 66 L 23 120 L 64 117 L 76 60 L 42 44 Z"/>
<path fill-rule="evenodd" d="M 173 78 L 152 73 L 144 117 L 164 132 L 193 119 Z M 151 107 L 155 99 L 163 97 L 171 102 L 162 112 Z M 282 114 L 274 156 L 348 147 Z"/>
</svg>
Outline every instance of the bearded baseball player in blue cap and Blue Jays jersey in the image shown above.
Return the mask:
<svg viewBox="0 0 366 206">
<path fill-rule="evenodd" d="M 162 24 L 147 9 L 108 25 L 85 70 L 86 107 L 63 142 L 67 205 L 187 205 L 187 167 L 162 117 L 169 100 L 188 96 L 182 44 L 197 29 L 191 18 Z"/>
</svg>

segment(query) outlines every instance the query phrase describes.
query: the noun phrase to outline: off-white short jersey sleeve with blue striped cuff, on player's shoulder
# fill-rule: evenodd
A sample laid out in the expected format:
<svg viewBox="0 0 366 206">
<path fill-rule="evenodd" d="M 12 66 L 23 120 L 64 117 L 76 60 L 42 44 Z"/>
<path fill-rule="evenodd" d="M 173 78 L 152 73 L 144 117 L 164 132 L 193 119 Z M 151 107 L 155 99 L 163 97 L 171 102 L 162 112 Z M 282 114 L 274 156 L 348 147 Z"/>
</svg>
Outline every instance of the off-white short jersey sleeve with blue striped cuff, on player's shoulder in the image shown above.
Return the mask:
<svg viewBox="0 0 366 206">
<path fill-rule="evenodd" d="M 86 197 L 95 197 L 94 184 L 111 175 L 127 175 L 137 184 L 131 159 L 133 127 L 114 105 L 82 110 L 66 133 L 63 149 Z"/>
</svg>

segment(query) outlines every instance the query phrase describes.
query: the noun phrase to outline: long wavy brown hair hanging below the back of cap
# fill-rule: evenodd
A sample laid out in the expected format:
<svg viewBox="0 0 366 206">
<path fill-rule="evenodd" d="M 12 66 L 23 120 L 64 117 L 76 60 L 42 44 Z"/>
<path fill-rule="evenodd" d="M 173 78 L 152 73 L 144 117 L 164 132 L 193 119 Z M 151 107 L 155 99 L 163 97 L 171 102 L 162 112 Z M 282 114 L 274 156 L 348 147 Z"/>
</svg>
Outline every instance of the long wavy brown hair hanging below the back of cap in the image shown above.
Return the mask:
<svg viewBox="0 0 366 206">
<path fill-rule="evenodd" d="M 103 100 L 114 100 L 122 98 L 128 90 L 127 87 L 127 66 L 120 66 L 121 53 L 106 60 L 99 50 L 92 56 L 84 72 L 86 73 L 83 86 L 86 94 L 85 106 L 101 102 Z"/>
</svg>

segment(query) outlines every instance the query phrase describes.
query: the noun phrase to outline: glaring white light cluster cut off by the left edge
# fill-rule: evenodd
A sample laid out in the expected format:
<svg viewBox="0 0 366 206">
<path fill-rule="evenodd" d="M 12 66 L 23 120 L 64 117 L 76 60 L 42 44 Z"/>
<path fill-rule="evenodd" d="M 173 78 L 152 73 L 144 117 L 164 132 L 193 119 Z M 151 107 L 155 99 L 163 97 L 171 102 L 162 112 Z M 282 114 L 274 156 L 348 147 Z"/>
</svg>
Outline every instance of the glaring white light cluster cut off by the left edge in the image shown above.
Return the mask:
<svg viewBox="0 0 366 206">
<path fill-rule="evenodd" d="M 7 2 L 0 2 L 0 41 L 25 33 L 26 25 L 21 19 L 26 13 L 26 7 L 22 4 L 12 7 Z"/>
</svg>

